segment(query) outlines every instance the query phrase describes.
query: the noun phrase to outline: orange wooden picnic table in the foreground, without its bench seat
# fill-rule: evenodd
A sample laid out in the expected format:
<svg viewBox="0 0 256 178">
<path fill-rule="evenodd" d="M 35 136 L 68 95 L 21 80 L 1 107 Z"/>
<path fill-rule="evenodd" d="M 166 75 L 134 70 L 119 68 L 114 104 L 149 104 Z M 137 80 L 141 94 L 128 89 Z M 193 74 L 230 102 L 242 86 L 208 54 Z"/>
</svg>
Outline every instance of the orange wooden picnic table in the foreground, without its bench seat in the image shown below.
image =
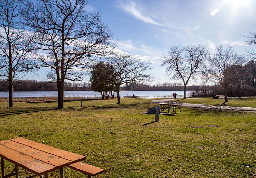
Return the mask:
<svg viewBox="0 0 256 178">
<path fill-rule="evenodd" d="M 85 156 L 24 138 L 0 141 L 0 157 L 2 178 L 18 177 L 18 167 L 35 174 L 29 178 L 43 175 L 47 178 L 48 173 L 57 169 L 63 178 L 63 167 L 85 159 Z M 15 164 L 9 175 L 4 175 L 4 159 Z"/>
</svg>

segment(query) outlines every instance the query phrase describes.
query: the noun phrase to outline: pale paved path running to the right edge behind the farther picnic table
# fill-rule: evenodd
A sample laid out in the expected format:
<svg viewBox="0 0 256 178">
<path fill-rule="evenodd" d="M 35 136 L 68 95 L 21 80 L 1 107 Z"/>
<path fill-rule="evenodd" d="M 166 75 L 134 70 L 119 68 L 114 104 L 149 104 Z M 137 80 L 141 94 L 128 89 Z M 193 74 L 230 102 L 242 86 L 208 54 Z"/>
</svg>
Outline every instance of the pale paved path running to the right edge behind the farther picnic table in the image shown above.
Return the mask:
<svg viewBox="0 0 256 178">
<path fill-rule="evenodd" d="M 252 107 L 233 107 L 233 106 L 213 106 L 213 105 L 203 105 L 203 104 L 189 104 L 189 103 L 180 103 L 172 102 L 172 99 L 162 99 L 162 100 L 153 100 L 152 103 L 175 103 L 183 107 L 190 108 L 205 108 L 205 109 L 219 109 L 219 110 L 235 110 L 235 111 L 255 111 L 256 108 Z"/>
</svg>

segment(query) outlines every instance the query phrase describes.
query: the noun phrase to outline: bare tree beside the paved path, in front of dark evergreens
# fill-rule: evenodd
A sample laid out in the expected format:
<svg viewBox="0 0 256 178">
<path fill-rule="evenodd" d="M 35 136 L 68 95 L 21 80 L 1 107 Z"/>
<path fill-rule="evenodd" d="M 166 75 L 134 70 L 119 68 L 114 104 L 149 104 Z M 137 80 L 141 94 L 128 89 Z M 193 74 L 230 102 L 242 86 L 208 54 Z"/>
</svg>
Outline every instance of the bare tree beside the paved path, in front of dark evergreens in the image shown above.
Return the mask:
<svg viewBox="0 0 256 178">
<path fill-rule="evenodd" d="M 210 56 L 209 74 L 213 81 L 220 83 L 224 89 L 225 102 L 228 102 L 228 87 L 233 78 L 232 69 L 235 66 L 242 65 L 244 57 L 234 52 L 233 47 L 229 46 L 223 49 L 223 46 L 217 46 L 215 54 Z"/>
</svg>

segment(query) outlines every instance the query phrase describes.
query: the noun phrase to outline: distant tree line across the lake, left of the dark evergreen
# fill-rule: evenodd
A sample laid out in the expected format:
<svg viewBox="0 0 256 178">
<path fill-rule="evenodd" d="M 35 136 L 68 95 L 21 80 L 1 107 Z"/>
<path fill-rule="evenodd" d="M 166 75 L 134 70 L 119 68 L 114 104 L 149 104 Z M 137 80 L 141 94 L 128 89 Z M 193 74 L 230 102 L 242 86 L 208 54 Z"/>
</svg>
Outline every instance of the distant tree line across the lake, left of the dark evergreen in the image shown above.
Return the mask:
<svg viewBox="0 0 256 178">
<path fill-rule="evenodd" d="M 65 82 L 65 91 L 90 91 L 91 85 L 86 82 Z M 8 91 L 8 82 L 0 79 L 0 91 Z M 15 80 L 13 91 L 57 91 L 54 82 L 37 80 Z"/>
</svg>

